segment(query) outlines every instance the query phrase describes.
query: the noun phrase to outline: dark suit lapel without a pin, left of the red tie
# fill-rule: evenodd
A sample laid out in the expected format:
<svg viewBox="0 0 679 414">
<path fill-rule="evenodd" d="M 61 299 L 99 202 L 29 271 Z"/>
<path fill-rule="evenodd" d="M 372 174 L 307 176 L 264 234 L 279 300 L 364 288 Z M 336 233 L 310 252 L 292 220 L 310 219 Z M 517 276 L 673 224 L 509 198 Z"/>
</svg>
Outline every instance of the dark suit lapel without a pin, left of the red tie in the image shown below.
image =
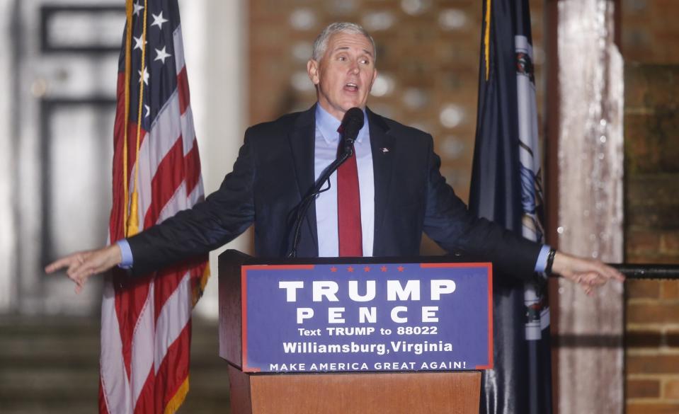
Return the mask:
<svg viewBox="0 0 679 414">
<path fill-rule="evenodd" d="M 307 196 L 314 187 L 314 152 L 316 138 L 316 105 L 309 110 L 299 114 L 295 121 L 295 126 L 288 136 L 290 139 L 290 149 L 292 159 L 295 163 L 295 178 L 297 180 L 297 190 L 299 190 L 300 200 Z M 312 202 L 309 212 L 305 219 L 309 231 L 314 239 L 316 255 L 318 252 L 318 231 L 316 229 L 316 203 Z M 293 221 L 294 222 L 294 221 Z"/>
</svg>

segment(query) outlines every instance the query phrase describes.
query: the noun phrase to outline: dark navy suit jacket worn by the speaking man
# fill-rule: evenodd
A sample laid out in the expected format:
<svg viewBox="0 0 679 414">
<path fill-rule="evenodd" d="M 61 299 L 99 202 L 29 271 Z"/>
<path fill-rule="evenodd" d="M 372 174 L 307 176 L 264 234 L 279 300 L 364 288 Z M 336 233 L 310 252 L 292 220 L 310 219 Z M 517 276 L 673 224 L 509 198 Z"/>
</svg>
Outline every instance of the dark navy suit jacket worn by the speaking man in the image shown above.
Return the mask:
<svg viewBox="0 0 679 414">
<path fill-rule="evenodd" d="M 477 219 L 445 178 L 429 134 L 367 110 L 375 176 L 375 256 L 415 257 L 422 232 L 448 252 L 531 275 L 540 245 Z M 143 273 L 218 248 L 255 228 L 255 254 L 285 257 L 296 207 L 314 187 L 315 107 L 246 130 L 232 173 L 192 209 L 129 238 L 133 270 Z M 297 257 L 316 257 L 314 203 Z"/>
</svg>

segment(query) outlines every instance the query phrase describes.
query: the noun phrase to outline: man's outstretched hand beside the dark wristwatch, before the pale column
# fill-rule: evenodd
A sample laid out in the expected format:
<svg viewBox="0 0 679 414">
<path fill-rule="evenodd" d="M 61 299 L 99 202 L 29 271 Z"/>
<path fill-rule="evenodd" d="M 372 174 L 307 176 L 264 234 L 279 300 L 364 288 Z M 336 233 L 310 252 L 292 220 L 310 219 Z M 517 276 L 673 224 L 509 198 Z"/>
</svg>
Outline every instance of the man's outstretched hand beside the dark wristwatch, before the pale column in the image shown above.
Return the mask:
<svg viewBox="0 0 679 414">
<path fill-rule="evenodd" d="M 578 258 L 574 255 L 557 252 L 554 255 L 552 271 L 579 284 L 586 294 L 592 294 L 596 287 L 608 280 L 624 282 L 624 275 L 600 260 Z"/>
</svg>

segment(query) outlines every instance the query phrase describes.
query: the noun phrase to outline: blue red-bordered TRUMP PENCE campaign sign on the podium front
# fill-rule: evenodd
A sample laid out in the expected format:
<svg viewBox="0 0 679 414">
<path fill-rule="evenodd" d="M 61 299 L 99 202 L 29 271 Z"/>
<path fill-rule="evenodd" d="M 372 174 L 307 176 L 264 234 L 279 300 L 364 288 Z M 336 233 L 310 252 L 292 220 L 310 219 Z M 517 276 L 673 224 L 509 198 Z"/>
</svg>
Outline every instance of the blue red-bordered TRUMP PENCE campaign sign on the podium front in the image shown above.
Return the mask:
<svg viewBox="0 0 679 414">
<path fill-rule="evenodd" d="M 489 369 L 490 263 L 244 265 L 244 372 Z"/>
</svg>

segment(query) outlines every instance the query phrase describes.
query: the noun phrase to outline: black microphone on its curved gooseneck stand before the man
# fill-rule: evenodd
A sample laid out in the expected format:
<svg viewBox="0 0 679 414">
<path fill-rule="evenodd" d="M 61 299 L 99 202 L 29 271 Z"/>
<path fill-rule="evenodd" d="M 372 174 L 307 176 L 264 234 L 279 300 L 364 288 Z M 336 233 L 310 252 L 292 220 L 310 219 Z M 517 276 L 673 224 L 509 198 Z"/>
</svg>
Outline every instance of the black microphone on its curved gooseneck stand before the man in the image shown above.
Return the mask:
<svg viewBox="0 0 679 414">
<path fill-rule="evenodd" d="M 287 253 L 288 258 L 297 257 L 297 246 L 299 245 L 300 231 L 302 230 L 302 222 L 304 217 L 307 217 L 307 211 L 309 211 L 309 206 L 316 200 L 316 197 L 321 193 L 330 188 L 330 176 L 331 174 L 339 168 L 349 157 L 353 154 L 353 142 L 358 137 L 358 132 L 363 128 L 363 110 L 360 108 L 351 108 L 344 113 L 342 118 L 342 123 L 338 128 L 341 134 L 344 144 L 344 151 L 338 155 L 337 159 L 333 161 L 324 171 L 321 176 L 316 181 L 314 188 L 309 192 L 309 194 L 304 197 L 302 202 L 297 206 L 297 213 L 295 216 L 295 223 L 292 225 L 292 246 Z M 328 183 L 328 188 L 322 189 L 324 183 Z"/>
</svg>

